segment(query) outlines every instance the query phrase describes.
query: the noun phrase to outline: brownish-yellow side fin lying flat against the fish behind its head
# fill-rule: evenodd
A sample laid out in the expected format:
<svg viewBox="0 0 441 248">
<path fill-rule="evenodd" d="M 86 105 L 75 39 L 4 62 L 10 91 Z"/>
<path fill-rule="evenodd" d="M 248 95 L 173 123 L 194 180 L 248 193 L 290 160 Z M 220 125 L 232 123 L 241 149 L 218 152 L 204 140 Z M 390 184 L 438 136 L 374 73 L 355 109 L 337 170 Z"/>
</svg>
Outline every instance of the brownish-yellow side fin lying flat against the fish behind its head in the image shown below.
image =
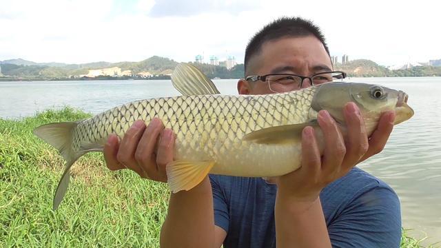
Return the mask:
<svg viewBox="0 0 441 248">
<path fill-rule="evenodd" d="M 302 138 L 302 130 L 307 126 L 317 127 L 318 125 L 316 121 L 311 121 L 309 123 L 267 127 L 245 134 L 245 136 L 243 136 L 243 141 L 252 141 L 259 144 L 300 142 Z"/>
</svg>

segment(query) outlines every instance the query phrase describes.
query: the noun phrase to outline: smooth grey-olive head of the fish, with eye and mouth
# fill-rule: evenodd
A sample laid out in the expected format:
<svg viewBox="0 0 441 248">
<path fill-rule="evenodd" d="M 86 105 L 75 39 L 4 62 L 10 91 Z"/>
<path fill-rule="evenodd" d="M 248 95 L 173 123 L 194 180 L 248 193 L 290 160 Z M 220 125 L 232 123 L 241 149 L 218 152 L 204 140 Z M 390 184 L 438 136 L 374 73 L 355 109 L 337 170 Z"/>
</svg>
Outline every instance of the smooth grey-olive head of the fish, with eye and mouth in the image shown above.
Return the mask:
<svg viewBox="0 0 441 248">
<path fill-rule="evenodd" d="M 376 129 L 382 113 L 395 111 L 394 125 L 409 120 L 413 110 L 407 105 L 406 93 L 380 85 L 367 83 L 324 83 L 317 86 L 311 107 L 327 110 L 340 124 L 345 124 L 343 107 L 348 102 L 358 105 L 370 135 Z"/>
</svg>

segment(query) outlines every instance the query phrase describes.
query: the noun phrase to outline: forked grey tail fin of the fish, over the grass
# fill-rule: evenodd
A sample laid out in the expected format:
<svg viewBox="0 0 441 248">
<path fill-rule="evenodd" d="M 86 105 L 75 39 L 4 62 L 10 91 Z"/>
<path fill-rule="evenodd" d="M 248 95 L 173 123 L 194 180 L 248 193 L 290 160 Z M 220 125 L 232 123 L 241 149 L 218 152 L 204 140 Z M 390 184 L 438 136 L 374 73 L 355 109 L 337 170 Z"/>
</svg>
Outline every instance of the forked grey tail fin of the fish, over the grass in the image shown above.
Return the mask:
<svg viewBox="0 0 441 248">
<path fill-rule="evenodd" d="M 58 149 L 66 161 L 63 176 L 61 176 L 54 196 L 54 210 L 59 207 L 61 200 L 63 200 L 68 190 L 70 167 L 80 156 L 85 154 L 85 152 L 75 152 L 72 148 L 72 134 L 76 125 L 78 125 L 78 122 L 50 123 L 34 129 L 34 134 Z"/>
</svg>

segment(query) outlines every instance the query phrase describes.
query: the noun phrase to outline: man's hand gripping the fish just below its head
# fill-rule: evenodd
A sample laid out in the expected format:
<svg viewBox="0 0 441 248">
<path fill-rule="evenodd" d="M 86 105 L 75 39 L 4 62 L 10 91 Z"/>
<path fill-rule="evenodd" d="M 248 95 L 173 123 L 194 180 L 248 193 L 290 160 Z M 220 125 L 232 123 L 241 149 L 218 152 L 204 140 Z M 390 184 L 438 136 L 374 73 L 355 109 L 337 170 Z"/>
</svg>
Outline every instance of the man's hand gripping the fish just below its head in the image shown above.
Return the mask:
<svg viewBox="0 0 441 248">
<path fill-rule="evenodd" d="M 329 183 L 345 176 L 355 165 L 381 152 L 393 129 L 395 113 L 384 113 L 376 131 L 368 139 L 365 123 L 355 103 L 344 109 L 347 137 L 344 140 L 334 119 L 325 110 L 318 114 L 318 124 L 325 139 L 320 156 L 312 127 L 302 132 L 302 167 L 276 178 L 280 196 L 303 203 L 313 203 Z"/>
</svg>

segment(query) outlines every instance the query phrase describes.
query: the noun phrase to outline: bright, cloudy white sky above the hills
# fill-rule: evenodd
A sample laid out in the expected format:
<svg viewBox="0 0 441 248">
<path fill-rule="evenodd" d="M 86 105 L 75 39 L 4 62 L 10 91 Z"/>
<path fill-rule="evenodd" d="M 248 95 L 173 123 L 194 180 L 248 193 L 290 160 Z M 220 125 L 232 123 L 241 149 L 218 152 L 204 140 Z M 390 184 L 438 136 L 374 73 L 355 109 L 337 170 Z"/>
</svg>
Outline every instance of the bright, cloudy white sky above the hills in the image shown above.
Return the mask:
<svg viewBox="0 0 441 248">
<path fill-rule="evenodd" d="M 331 55 L 380 65 L 441 59 L 440 1 L 0 0 L 0 61 L 243 63 L 249 39 L 279 17 L 304 17 Z"/>
</svg>

